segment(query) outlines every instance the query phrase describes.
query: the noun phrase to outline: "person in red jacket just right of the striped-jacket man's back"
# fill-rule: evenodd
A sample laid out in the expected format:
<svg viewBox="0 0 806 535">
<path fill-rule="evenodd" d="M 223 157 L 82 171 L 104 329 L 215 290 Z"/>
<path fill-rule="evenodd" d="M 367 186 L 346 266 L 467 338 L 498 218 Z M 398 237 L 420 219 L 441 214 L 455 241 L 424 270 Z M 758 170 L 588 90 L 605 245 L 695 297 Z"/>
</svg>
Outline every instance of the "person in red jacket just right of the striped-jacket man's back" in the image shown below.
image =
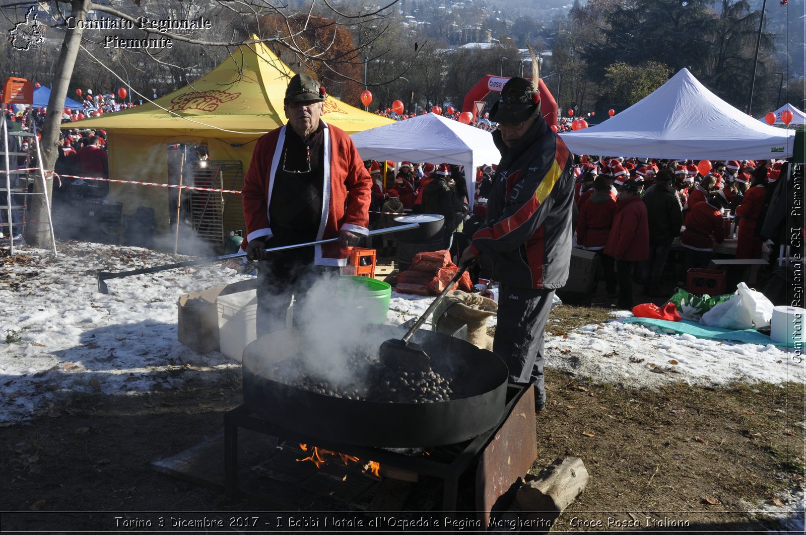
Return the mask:
<svg viewBox="0 0 806 535">
<path fill-rule="evenodd" d="M 604 175 L 596 177 L 592 189 L 593 193 L 586 196 L 580 205 L 580 216 L 576 222 L 576 243 L 583 249 L 596 251 L 605 272 L 608 297 L 616 297 L 613 257 L 602 254 L 616 215 L 616 199 L 610 196 L 610 182 Z"/>
</svg>

